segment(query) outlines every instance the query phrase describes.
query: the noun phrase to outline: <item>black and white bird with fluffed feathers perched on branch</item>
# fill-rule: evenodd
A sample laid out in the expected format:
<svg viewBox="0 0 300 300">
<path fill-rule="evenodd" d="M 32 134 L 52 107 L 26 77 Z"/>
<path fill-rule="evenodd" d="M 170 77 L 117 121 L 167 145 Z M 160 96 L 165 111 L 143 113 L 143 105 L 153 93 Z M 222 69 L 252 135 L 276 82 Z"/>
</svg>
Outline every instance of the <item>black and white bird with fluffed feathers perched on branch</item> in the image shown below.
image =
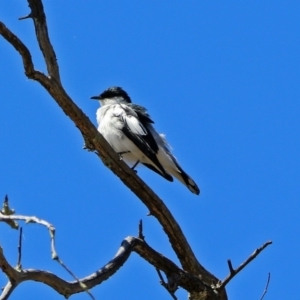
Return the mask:
<svg viewBox="0 0 300 300">
<path fill-rule="evenodd" d="M 110 146 L 134 170 L 142 164 L 168 181 L 173 176 L 194 194 L 200 189 L 180 167 L 164 134 L 154 129 L 154 121 L 146 108 L 133 104 L 127 92 L 118 86 L 109 87 L 91 99 L 100 101 L 96 118 L 98 131 Z"/>
</svg>

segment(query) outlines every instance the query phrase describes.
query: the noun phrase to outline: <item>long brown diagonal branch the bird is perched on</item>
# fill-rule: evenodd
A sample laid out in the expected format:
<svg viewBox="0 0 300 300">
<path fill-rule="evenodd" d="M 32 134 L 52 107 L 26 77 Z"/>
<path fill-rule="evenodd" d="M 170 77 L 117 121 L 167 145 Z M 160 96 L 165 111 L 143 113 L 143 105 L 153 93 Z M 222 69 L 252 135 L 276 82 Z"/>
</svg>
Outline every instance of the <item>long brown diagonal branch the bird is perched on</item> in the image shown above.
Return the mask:
<svg viewBox="0 0 300 300">
<path fill-rule="evenodd" d="M 37 2 L 38 0 L 35 0 Z M 42 29 L 47 31 L 47 27 Z M 169 241 L 177 254 L 184 270 L 191 274 L 200 274 L 202 279 L 208 284 L 217 281 L 209 271 L 207 271 L 197 261 L 190 245 L 188 244 L 178 223 L 164 205 L 163 201 L 133 172 L 118 155 L 113 151 L 107 141 L 99 134 L 89 118 L 77 107 L 77 105 L 67 95 L 62 86 L 53 78 L 47 78 L 44 74 L 35 71 L 31 61 L 31 56 L 26 46 L 13 35 L 3 23 L 0 22 L 0 34 L 20 53 L 23 58 L 26 75 L 37 80 L 55 99 L 66 115 L 73 120 L 76 127 L 81 131 L 84 139 L 96 150 L 97 155 L 103 163 L 109 167 L 122 182 L 136 194 L 136 196 L 148 207 L 151 215 L 155 216 L 164 231 L 169 237 Z M 39 36 L 37 36 L 39 38 Z M 51 62 L 49 62 L 51 63 Z"/>
</svg>

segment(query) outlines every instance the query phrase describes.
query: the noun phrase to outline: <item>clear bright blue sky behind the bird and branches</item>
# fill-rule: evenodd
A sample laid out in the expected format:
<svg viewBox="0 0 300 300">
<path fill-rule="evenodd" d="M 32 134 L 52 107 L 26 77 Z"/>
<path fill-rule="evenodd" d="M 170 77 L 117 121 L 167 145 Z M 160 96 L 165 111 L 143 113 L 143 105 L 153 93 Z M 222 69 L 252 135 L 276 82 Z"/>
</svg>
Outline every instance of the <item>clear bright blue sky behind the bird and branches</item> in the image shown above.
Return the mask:
<svg viewBox="0 0 300 300">
<path fill-rule="evenodd" d="M 300 269 L 300 42 L 297 1 L 45 1 L 48 29 L 63 84 L 95 122 L 90 96 L 119 85 L 146 106 L 167 134 L 199 197 L 147 169 L 139 176 L 168 205 L 200 262 L 220 279 L 227 259 L 239 265 L 267 248 L 227 287 L 231 300 L 295 299 Z M 27 2 L 0 2 L 0 19 L 45 71 Z M 98 160 L 82 149 L 74 124 L 0 38 L 0 197 L 18 213 L 57 229 L 63 261 L 84 277 L 105 264 L 121 241 L 137 234 L 176 257 L 158 222 Z M 0 243 L 11 263 L 18 233 L 5 224 Z M 27 225 L 24 268 L 70 279 L 50 259 L 48 233 Z M 96 287 L 96 299 L 170 299 L 154 268 L 133 254 Z M 5 284 L 3 275 L 0 286 Z M 61 299 L 38 283 L 11 299 Z M 180 290 L 179 299 L 186 299 Z M 89 299 L 86 294 L 72 299 Z"/>
</svg>

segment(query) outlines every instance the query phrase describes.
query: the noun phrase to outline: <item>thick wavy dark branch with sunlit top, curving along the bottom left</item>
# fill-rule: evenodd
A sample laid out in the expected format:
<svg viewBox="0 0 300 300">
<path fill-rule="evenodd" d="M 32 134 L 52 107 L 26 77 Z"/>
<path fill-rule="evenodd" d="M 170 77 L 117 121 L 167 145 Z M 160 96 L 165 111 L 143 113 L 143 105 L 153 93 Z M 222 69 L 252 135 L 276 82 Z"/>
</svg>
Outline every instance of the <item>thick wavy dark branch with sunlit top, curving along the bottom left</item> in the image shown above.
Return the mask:
<svg viewBox="0 0 300 300">
<path fill-rule="evenodd" d="M 105 266 L 87 277 L 76 279 L 76 281 L 72 282 L 65 281 L 47 271 L 23 269 L 21 272 L 18 272 L 9 265 L 4 257 L 2 248 L 0 248 L 0 268 L 8 276 L 10 281 L 10 284 L 7 284 L 4 289 L 0 300 L 7 299 L 7 295 L 11 293 L 15 286 L 28 280 L 42 282 L 65 297 L 87 291 L 115 274 L 129 258 L 132 251 L 137 252 L 140 256 L 147 259 L 153 266 L 165 272 L 167 276 L 177 274 L 179 278 L 178 285 L 185 289 L 200 291 L 203 288 L 210 288 L 205 286 L 199 277 L 187 274 L 178 268 L 171 260 L 152 249 L 143 240 L 135 237 L 127 237 L 123 240 L 115 257 Z"/>
</svg>

